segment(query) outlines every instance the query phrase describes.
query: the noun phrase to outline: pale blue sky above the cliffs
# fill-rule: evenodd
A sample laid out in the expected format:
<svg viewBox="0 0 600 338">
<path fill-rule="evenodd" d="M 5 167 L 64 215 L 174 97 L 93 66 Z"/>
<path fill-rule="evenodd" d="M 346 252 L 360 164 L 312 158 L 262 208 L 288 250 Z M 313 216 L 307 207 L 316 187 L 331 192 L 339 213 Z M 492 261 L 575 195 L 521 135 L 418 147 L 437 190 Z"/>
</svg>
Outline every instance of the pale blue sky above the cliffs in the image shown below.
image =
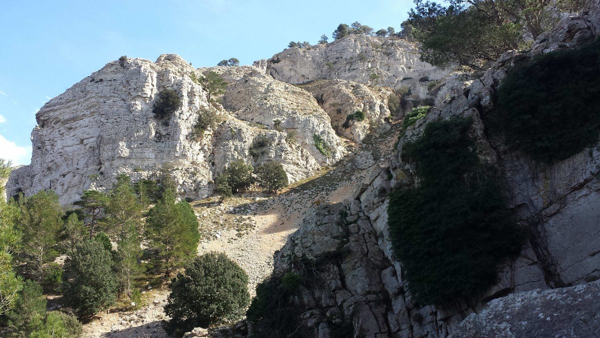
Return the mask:
<svg viewBox="0 0 600 338">
<path fill-rule="evenodd" d="M 121 55 L 179 54 L 194 67 L 269 58 L 289 41 L 316 43 L 340 23 L 374 29 L 407 17 L 409 0 L 3 1 L 0 158 L 29 164 L 35 112 Z"/>
</svg>

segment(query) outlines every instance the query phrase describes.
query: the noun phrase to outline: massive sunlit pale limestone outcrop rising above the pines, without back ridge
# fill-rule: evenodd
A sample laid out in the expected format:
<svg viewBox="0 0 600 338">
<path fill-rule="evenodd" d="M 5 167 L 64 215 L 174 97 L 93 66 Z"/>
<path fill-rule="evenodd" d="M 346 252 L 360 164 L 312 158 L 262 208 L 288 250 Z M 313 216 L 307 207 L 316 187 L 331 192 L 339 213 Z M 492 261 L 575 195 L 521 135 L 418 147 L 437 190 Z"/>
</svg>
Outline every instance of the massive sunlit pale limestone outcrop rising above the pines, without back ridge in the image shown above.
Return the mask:
<svg viewBox="0 0 600 338">
<path fill-rule="evenodd" d="M 281 161 L 295 182 L 344 155 L 328 115 L 306 91 L 253 66 L 212 70 L 232 82 L 225 101 L 236 112 L 214 111 L 223 123 L 201 135 L 194 135 L 197 118 L 212 108 L 190 75 L 202 72 L 177 55 L 161 55 L 155 63 L 113 61 L 92 73 L 40 109 L 31 165 L 13 171 L 7 195 L 52 189 L 70 204 L 86 189 L 110 188 L 118 174 L 136 181 L 168 170 L 183 197 L 198 198 L 211 194 L 215 174 L 238 158 L 253 165 Z M 167 88 L 179 94 L 182 106 L 163 121 L 152 107 Z M 265 129 L 276 119 L 283 129 Z M 327 155 L 314 146 L 314 135 Z M 257 137 L 267 140 L 265 146 L 257 147 Z"/>
</svg>

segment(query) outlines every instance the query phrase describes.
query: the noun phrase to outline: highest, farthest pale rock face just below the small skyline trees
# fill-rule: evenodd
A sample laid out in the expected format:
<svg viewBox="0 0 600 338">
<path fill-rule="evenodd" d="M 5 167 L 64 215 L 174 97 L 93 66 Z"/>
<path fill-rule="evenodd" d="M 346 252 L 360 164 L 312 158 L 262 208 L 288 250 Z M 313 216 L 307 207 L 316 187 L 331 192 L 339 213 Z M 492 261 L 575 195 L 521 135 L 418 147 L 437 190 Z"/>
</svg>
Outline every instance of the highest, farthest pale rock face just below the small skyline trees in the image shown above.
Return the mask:
<svg viewBox="0 0 600 338">
<path fill-rule="evenodd" d="M 449 70 L 425 63 L 419 57 L 415 43 L 349 35 L 328 45 L 286 49 L 268 60 L 266 72 L 291 84 L 342 79 L 394 89 L 409 87 L 423 99 L 428 82 L 443 78 Z"/>
</svg>

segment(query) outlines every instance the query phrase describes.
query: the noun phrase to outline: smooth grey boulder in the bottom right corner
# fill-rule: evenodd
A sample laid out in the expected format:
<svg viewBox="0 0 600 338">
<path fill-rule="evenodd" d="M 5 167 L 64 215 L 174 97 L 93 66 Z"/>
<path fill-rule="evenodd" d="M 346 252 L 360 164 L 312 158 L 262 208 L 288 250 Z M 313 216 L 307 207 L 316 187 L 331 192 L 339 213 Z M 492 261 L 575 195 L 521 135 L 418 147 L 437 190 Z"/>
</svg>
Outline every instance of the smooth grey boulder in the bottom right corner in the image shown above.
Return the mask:
<svg viewBox="0 0 600 338">
<path fill-rule="evenodd" d="M 450 337 L 597 337 L 599 294 L 598 281 L 515 293 L 468 316 Z"/>
</svg>

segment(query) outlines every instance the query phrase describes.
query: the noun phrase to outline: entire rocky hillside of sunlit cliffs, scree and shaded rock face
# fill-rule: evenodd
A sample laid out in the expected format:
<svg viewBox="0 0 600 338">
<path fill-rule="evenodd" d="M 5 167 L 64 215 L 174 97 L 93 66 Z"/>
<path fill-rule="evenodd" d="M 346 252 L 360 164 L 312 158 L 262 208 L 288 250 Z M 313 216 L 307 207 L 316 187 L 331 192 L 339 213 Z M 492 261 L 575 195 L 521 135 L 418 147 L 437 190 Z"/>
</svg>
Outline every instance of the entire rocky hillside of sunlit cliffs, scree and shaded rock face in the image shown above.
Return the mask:
<svg viewBox="0 0 600 338">
<path fill-rule="evenodd" d="M 481 72 L 361 34 L 253 66 L 124 57 L 40 109 L 7 196 L 71 207 L 121 174 L 172 177 L 196 254 L 226 253 L 256 297 L 247 321 L 187 337 L 597 336 L 598 35 L 590 1 Z M 181 105 L 161 117 L 167 90 Z M 239 160 L 281 164 L 289 186 L 221 197 Z M 142 283 L 140 309 L 98 313 L 84 336 L 166 337 L 171 281 Z"/>
</svg>

